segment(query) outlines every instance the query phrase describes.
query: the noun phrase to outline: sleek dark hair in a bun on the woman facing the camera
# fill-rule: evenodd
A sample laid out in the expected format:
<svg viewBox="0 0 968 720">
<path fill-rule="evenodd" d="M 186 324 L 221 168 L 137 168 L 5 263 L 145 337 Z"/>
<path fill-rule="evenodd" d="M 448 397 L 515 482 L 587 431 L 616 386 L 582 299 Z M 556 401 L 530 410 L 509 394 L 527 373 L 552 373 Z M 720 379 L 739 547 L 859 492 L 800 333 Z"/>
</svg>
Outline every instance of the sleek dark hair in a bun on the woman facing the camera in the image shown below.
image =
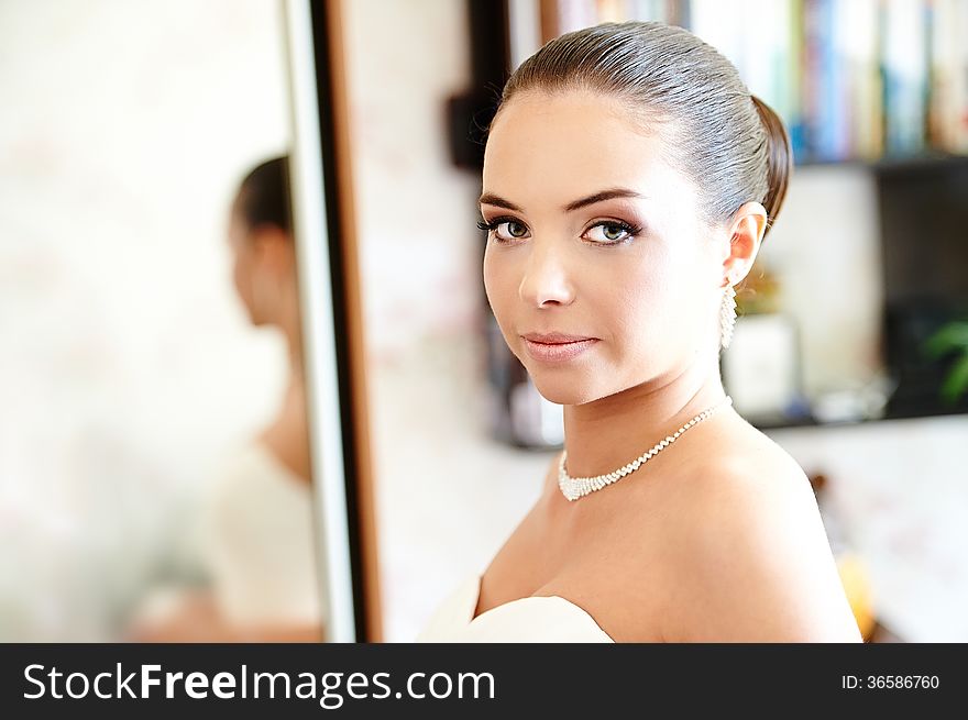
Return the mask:
<svg viewBox="0 0 968 720">
<path fill-rule="evenodd" d="M 761 202 L 777 219 L 793 167 L 780 118 L 752 97 L 733 64 L 692 33 L 659 22 L 603 23 L 566 33 L 525 60 L 501 107 L 528 90 L 588 89 L 662 128 L 670 164 L 700 188 L 706 219 L 728 219 Z"/>
</svg>

